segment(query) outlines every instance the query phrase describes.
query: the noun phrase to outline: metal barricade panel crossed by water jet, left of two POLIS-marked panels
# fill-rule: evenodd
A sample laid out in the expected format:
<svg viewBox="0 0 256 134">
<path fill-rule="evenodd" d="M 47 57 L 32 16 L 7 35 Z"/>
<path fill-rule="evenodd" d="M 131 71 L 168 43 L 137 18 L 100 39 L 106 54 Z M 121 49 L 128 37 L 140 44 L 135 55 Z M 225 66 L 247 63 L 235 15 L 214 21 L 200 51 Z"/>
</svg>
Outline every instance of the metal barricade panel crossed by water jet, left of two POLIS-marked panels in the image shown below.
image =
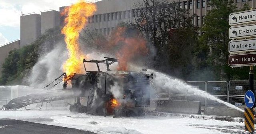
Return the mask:
<svg viewBox="0 0 256 134">
<path fill-rule="evenodd" d="M 205 81 L 188 81 L 187 84 L 191 85 L 192 87 L 194 87 L 196 89 L 206 91 L 206 82 Z M 186 93 L 186 101 L 200 101 L 201 106 L 205 106 L 205 104 L 206 104 L 205 97 L 194 95 L 193 92 L 189 92 L 189 91 Z"/>
</svg>

